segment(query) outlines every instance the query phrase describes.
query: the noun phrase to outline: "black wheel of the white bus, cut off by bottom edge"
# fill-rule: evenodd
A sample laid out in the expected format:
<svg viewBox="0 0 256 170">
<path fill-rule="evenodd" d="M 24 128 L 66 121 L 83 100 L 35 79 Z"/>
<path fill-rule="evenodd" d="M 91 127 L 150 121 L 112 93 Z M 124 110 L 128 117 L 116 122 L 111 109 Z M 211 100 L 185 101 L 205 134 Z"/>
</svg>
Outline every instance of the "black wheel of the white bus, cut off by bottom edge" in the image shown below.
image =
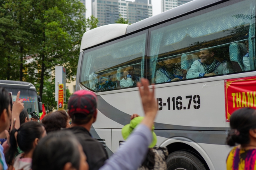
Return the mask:
<svg viewBox="0 0 256 170">
<path fill-rule="evenodd" d="M 183 150 L 169 154 L 166 162 L 167 170 L 206 170 L 196 156 Z"/>
</svg>

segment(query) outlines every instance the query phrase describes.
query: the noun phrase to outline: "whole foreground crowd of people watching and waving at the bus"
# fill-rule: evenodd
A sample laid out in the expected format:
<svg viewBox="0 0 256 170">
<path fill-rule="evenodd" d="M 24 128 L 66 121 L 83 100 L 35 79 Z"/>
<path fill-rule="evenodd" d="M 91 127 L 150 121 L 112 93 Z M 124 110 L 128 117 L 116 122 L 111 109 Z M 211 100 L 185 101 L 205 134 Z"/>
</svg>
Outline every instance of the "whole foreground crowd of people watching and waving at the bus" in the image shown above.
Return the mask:
<svg viewBox="0 0 256 170">
<path fill-rule="evenodd" d="M 140 81 L 136 85 L 145 116 L 131 116 L 122 129 L 126 143 L 110 158 L 90 134 L 98 111 L 93 92 L 74 92 L 68 101 L 68 114 L 54 111 L 39 123 L 30 121 L 19 100 L 20 92 L 11 108 L 8 92 L 0 87 L 0 170 L 166 170 L 168 150 L 156 146 L 154 133 L 158 110 L 154 86 L 150 90 L 148 80 Z M 235 147 L 228 154 L 227 170 L 254 170 L 256 110 L 236 110 L 230 127 L 226 143 Z"/>
</svg>

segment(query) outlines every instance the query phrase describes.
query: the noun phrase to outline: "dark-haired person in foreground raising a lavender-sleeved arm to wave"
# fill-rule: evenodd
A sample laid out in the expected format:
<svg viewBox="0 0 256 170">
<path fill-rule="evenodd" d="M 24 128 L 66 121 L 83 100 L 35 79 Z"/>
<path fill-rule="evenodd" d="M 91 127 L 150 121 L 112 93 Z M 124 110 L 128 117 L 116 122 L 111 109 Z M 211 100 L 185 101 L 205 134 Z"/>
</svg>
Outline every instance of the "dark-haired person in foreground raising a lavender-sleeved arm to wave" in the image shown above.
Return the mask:
<svg viewBox="0 0 256 170">
<path fill-rule="evenodd" d="M 144 87 L 143 90 L 141 84 Z M 148 80 L 143 78 L 141 84 L 138 83 L 138 87 L 145 117 L 134 129 L 127 142 L 106 161 L 100 170 L 137 170 L 148 152 L 148 146 L 152 142 L 152 125 L 157 106 L 154 87 L 150 91 Z M 32 161 L 32 170 L 88 170 L 82 146 L 68 131 L 54 132 L 42 139 L 34 150 Z"/>
</svg>

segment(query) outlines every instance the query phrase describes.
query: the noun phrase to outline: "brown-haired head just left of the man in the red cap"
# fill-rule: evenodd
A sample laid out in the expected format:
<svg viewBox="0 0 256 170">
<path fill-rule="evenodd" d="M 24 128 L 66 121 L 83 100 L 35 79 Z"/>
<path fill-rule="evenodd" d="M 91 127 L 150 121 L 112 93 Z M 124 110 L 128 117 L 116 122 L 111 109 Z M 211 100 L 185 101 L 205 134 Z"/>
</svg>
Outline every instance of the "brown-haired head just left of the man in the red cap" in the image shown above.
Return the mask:
<svg viewBox="0 0 256 170">
<path fill-rule="evenodd" d="M 42 123 L 44 124 L 47 133 L 71 127 L 69 121 L 70 117 L 64 110 L 49 113 L 42 119 Z"/>
</svg>

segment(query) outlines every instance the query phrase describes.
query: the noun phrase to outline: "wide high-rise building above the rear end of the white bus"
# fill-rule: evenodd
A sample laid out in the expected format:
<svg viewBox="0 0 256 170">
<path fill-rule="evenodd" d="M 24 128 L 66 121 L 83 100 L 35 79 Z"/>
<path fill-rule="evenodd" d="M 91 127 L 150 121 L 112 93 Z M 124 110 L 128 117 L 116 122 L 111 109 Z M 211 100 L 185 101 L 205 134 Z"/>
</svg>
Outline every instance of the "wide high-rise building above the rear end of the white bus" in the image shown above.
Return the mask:
<svg viewBox="0 0 256 170">
<path fill-rule="evenodd" d="M 92 15 L 98 18 L 98 26 L 115 23 L 120 17 L 135 23 L 152 16 L 151 0 L 92 0 Z"/>
</svg>

